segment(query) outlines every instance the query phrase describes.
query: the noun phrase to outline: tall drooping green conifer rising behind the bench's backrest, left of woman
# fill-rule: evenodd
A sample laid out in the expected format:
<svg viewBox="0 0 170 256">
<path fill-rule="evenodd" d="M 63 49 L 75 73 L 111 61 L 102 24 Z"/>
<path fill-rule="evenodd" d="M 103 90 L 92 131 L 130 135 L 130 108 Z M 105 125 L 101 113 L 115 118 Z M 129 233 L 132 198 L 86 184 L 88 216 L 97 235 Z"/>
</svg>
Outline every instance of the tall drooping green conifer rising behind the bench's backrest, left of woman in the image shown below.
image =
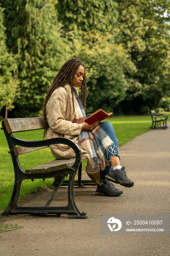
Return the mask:
<svg viewBox="0 0 170 256">
<path fill-rule="evenodd" d="M 6 21 L 11 52 L 18 63 L 20 97 L 15 115 L 35 116 L 51 82 L 66 60 L 66 44 L 60 37 L 55 8 L 50 0 L 15 0 L 8 5 Z M 11 11 L 9 10 L 11 8 Z"/>
</svg>

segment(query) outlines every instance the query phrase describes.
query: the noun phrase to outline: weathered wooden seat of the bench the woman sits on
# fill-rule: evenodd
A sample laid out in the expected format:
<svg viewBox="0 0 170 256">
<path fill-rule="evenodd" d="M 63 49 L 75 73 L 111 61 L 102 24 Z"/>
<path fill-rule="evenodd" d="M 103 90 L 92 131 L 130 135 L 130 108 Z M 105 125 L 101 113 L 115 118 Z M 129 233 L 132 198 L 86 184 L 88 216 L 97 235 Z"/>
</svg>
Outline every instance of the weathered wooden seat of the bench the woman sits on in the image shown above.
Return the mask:
<svg viewBox="0 0 170 256">
<path fill-rule="evenodd" d="M 82 161 L 85 161 L 86 156 L 82 156 Z M 26 174 L 34 174 L 34 173 L 46 173 L 46 172 L 54 172 L 57 170 L 66 169 L 74 164 L 76 158 L 71 159 L 55 159 L 47 163 L 43 163 L 42 165 L 38 165 L 32 167 L 30 169 L 26 169 Z"/>
</svg>

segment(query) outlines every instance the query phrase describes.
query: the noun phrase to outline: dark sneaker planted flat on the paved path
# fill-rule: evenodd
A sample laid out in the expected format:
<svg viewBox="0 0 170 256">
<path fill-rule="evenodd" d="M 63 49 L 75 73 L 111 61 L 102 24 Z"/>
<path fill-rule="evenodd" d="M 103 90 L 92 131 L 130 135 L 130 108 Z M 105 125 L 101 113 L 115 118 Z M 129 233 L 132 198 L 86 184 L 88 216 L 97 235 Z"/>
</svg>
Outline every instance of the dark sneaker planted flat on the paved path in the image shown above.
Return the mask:
<svg viewBox="0 0 170 256">
<path fill-rule="evenodd" d="M 119 196 L 123 193 L 121 189 L 115 188 L 110 181 L 104 181 L 103 184 L 97 184 L 95 194 L 99 196 Z"/>
</svg>

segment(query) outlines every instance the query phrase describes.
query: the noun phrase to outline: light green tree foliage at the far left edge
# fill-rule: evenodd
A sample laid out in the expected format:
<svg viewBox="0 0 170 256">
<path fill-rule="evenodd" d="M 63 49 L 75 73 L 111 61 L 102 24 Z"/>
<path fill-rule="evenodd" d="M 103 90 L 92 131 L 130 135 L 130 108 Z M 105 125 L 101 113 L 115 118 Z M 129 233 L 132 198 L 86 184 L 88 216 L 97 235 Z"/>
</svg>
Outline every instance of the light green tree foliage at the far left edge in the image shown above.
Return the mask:
<svg viewBox="0 0 170 256">
<path fill-rule="evenodd" d="M 11 110 L 14 108 L 13 101 L 19 95 L 19 80 L 15 76 L 15 60 L 7 50 L 3 17 L 3 9 L 0 7 L 0 110 L 4 106 Z"/>
</svg>

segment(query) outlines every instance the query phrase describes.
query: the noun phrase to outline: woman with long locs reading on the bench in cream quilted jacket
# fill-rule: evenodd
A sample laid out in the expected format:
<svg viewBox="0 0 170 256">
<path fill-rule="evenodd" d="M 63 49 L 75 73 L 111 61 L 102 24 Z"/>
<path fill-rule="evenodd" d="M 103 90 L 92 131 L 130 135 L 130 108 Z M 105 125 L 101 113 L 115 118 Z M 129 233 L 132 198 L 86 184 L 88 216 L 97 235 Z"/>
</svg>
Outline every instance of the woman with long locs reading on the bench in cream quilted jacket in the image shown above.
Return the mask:
<svg viewBox="0 0 170 256">
<path fill-rule="evenodd" d="M 81 86 L 81 99 L 76 87 Z M 132 187 L 124 167 L 120 165 L 118 140 L 110 122 L 97 121 L 91 125 L 84 122 L 85 100 L 88 94 L 84 64 L 69 59 L 62 65 L 51 84 L 43 103 L 44 136 L 47 139 L 65 137 L 72 139 L 86 155 L 86 173 L 97 184 L 96 195 L 118 196 L 122 190 L 110 182 Z M 74 158 L 67 145 L 51 145 L 57 159 Z"/>
</svg>

